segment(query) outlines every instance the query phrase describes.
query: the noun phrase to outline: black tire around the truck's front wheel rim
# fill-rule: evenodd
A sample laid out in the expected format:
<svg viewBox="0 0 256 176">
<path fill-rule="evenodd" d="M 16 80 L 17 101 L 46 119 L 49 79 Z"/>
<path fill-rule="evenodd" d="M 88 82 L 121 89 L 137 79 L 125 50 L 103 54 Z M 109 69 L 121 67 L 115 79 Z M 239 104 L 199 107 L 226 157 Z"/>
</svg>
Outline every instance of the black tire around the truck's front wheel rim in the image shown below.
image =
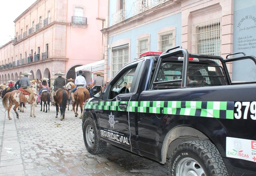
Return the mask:
<svg viewBox="0 0 256 176">
<path fill-rule="evenodd" d="M 92 128 L 94 132 L 94 142 L 92 145 L 90 145 L 86 140 L 86 128 L 87 127 Z M 84 122 L 84 128 L 83 128 L 83 136 L 84 136 L 84 144 L 87 149 L 87 151 L 90 154 L 100 154 L 103 153 L 107 148 L 107 142 L 100 140 L 100 131 L 97 130 L 96 125 L 94 123 L 94 120 L 92 118 L 87 118 Z"/>
</svg>

